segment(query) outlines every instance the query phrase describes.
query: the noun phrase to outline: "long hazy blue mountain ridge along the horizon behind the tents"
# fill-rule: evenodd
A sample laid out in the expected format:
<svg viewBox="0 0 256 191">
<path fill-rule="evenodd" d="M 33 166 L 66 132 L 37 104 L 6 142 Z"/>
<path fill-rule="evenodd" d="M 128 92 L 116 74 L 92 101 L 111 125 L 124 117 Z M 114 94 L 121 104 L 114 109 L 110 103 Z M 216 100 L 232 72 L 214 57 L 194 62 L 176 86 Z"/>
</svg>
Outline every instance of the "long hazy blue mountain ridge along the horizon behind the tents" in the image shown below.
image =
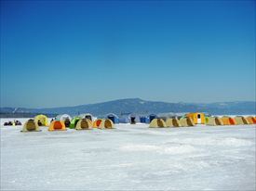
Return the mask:
<svg viewBox="0 0 256 191">
<path fill-rule="evenodd" d="M 0 108 L 0 113 L 48 113 L 61 114 L 68 113 L 77 115 L 79 113 L 91 113 L 95 116 L 107 113 L 164 113 L 164 112 L 208 112 L 213 115 L 222 114 L 255 114 L 256 102 L 222 102 L 211 104 L 188 104 L 188 103 L 167 103 L 157 101 L 145 101 L 140 98 L 118 99 L 98 104 L 88 104 L 75 107 L 62 108 Z"/>
</svg>

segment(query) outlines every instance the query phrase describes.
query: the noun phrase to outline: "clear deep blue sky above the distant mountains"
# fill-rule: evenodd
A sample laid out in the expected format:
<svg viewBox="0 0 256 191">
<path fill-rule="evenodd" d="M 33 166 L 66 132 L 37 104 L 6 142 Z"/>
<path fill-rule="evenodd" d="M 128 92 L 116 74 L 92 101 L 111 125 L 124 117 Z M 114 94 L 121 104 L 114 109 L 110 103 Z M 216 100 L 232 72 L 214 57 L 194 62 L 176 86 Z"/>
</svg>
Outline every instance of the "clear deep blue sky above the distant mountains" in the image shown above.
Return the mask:
<svg viewBox="0 0 256 191">
<path fill-rule="evenodd" d="M 1 107 L 255 99 L 255 1 L 1 1 Z"/>
</svg>

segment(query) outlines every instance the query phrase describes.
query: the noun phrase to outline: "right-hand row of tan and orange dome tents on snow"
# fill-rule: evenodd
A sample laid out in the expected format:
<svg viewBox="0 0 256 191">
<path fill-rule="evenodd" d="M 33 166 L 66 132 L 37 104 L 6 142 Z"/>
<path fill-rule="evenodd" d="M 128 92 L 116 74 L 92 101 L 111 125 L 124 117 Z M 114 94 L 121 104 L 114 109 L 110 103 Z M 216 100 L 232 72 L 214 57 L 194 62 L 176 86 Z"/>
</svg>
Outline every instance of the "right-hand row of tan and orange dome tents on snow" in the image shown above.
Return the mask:
<svg viewBox="0 0 256 191">
<path fill-rule="evenodd" d="M 216 125 L 246 125 L 246 124 L 256 124 L 256 117 L 243 117 L 236 116 L 235 118 L 231 118 L 229 116 L 219 117 L 204 117 L 201 118 L 202 121 L 197 122 L 198 119 L 192 118 L 189 114 L 185 117 L 178 118 L 168 118 L 164 119 L 154 119 L 150 122 L 149 127 L 189 127 L 195 126 L 195 124 L 206 124 L 211 126 Z"/>
</svg>

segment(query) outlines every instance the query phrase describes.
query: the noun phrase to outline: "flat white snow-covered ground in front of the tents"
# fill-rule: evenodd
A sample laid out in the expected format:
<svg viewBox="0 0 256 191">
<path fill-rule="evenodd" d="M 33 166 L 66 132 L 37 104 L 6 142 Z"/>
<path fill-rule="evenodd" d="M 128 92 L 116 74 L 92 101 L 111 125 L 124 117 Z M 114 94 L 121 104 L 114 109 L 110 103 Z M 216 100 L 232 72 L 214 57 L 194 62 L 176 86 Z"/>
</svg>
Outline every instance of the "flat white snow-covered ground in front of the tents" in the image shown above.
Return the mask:
<svg viewBox="0 0 256 191">
<path fill-rule="evenodd" d="M 1 190 L 255 190 L 255 125 L 20 133 L 1 120 Z"/>
</svg>

